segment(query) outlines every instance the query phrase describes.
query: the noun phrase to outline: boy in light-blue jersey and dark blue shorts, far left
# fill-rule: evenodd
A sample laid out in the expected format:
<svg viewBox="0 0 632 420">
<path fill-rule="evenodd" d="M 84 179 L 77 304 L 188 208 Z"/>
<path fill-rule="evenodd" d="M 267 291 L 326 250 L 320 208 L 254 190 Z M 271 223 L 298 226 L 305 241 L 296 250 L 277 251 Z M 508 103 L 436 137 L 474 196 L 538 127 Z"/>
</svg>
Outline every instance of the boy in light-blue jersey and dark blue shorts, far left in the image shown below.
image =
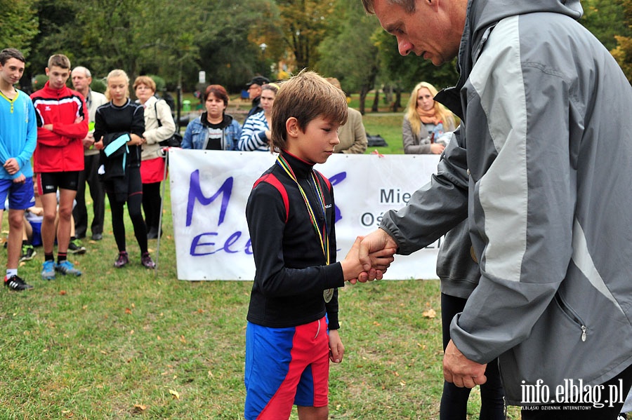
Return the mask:
<svg viewBox="0 0 632 420">
<path fill-rule="evenodd" d="M 13 87 L 22 78 L 25 61 L 24 55 L 15 48 L 0 52 L 0 208 L 4 210 L 8 195 L 9 235 L 4 285 L 11 290 L 33 288 L 18 276 L 24 210 L 35 203 L 31 156 L 37 144 L 31 98 Z"/>
</svg>

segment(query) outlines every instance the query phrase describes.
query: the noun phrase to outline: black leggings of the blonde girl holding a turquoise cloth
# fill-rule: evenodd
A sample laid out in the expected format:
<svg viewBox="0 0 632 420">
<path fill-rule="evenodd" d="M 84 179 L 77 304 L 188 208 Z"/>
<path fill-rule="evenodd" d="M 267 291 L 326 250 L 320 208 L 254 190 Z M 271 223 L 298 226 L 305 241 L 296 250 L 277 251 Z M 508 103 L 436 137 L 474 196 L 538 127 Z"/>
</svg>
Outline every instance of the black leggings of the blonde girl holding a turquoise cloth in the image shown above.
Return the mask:
<svg viewBox="0 0 632 420">
<path fill-rule="evenodd" d="M 125 244 L 125 222 L 123 217 L 124 202 L 117 201 L 112 184 L 105 184 L 107 198 L 110 200 L 110 208 L 112 209 L 112 231 L 114 231 L 114 240 L 117 242 L 119 252 L 126 250 Z M 147 226 L 143 220 L 143 212 L 140 211 L 143 203 L 143 183 L 140 181 L 140 168 L 129 168 L 128 196 L 127 196 L 127 212 L 134 226 L 134 236 L 138 242 L 140 253 L 147 252 Z"/>
</svg>

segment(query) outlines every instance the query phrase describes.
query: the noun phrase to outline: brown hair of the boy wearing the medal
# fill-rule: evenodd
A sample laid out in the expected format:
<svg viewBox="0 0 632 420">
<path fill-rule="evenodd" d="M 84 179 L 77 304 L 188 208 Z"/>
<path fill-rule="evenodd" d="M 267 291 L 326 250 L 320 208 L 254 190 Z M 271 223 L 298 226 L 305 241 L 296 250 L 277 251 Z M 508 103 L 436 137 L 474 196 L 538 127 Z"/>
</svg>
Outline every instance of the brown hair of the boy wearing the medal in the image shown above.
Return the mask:
<svg viewBox="0 0 632 420">
<path fill-rule="evenodd" d="M 287 149 L 285 123 L 291 117 L 305 132 L 310 121 L 322 117 L 331 123 L 347 122 L 347 99 L 342 90 L 334 87 L 322 76 L 303 69 L 296 76 L 281 83 L 272 105 L 270 119 L 270 151 Z"/>
</svg>

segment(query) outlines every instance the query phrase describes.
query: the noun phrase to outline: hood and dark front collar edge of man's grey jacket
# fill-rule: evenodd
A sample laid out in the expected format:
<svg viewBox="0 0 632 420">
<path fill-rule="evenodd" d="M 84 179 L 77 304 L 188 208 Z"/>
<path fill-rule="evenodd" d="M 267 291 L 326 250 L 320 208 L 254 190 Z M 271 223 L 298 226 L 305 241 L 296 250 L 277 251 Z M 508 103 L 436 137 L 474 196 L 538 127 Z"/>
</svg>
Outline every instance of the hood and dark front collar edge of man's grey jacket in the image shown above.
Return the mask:
<svg viewBox="0 0 632 420">
<path fill-rule="evenodd" d="M 459 81 L 454 88 L 437 94 L 435 100 L 463 119 L 459 90 L 465 85 L 473 63 L 478 58 L 489 32 L 497 22 L 515 15 L 527 13 L 560 13 L 578 20 L 584 14 L 579 0 L 470 0 L 468 1 L 466 24 L 459 46 L 459 62 L 456 70 Z"/>
</svg>

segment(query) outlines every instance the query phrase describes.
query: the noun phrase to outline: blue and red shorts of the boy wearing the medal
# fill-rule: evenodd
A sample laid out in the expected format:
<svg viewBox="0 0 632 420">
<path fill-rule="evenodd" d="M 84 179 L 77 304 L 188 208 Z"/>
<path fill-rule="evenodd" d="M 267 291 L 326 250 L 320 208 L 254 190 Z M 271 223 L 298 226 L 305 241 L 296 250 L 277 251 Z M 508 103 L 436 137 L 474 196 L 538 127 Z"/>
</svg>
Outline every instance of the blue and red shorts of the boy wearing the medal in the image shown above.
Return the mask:
<svg viewBox="0 0 632 420">
<path fill-rule="evenodd" d="M 327 318 L 289 328 L 246 327 L 246 420 L 288 419 L 293 405 L 329 404 Z"/>
</svg>

